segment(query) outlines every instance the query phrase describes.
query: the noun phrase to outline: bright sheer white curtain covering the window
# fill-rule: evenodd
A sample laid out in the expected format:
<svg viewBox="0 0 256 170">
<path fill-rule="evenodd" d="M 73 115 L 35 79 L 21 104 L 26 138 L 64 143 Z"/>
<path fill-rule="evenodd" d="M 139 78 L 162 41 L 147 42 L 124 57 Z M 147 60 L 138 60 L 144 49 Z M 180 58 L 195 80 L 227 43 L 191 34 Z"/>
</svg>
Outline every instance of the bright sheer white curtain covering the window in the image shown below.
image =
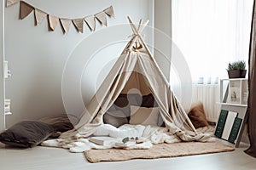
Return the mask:
<svg viewBox="0 0 256 170">
<path fill-rule="evenodd" d="M 230 61 L 248 59 L 252 9 L 253 0 L 172 0 L 172 41 L 188 62 L 193 101 L 203 102 L 210 121 L 218 116 L 218 78 L 228 77 Z"/>
</svg>

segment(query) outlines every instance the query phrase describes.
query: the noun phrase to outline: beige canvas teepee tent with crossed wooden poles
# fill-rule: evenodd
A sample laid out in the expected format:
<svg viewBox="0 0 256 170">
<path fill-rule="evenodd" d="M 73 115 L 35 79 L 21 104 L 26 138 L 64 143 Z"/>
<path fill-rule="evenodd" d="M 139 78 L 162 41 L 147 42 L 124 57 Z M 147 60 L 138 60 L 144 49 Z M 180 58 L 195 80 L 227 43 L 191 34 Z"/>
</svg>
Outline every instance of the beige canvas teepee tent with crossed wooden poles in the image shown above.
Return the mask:
<svg viewBox="0 0 256 170">
<path fill-rule="evenodd" d="M 170 84 L 143 41 L 141 32 L 148 21 L 142 24 L 140 20 L 136 27 L 129 17 L 128 20 L 133 31 L 131 41 L 126 45 L 90 103 L 86 105 L 86 111 L 79 124 L 73 130 L 62 133 L 60 138 L 89 137 L 104 123 L 103 115 L 119 94 L 127 94 L 129 90 L 136 88 L 141 94 L 153 94 L 159 105 L 160 116 L 171 134 L 177 135 L 183 141 L 204 140 L 203 135 L 196 133 L 187 113 L 172 93 Z"/>
</svg>

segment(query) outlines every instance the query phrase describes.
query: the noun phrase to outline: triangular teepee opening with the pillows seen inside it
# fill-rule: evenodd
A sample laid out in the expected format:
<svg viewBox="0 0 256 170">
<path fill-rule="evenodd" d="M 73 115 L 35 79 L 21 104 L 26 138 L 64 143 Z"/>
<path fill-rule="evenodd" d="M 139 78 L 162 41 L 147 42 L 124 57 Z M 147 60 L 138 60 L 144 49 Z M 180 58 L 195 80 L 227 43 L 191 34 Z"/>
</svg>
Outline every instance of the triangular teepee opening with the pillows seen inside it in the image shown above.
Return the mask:
<svg viewBox="0 0 256 170">
<path fill-rule="evenodd" d="M 143 74 L 131 71 L 125 88 L 104 114 L 103 122 L 114 127 L 127 123 L 165 126 L 160 116 L 159 105 L 148 88 Z"/>
</svg>

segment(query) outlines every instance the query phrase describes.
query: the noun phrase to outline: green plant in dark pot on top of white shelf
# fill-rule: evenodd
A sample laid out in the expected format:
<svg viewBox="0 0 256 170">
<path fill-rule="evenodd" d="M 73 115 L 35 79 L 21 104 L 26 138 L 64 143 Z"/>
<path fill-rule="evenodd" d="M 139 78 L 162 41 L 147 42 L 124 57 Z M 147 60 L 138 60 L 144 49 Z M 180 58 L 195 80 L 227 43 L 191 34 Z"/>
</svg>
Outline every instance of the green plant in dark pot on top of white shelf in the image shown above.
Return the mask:
<svg viewBox="0 0 256 170">
<path fill-rule="evenodd" d="M 229 63 L 227 68 L 229 78 L 245 78 L 247 74 L 246 62 L 244 60 Z"/>
</svg>

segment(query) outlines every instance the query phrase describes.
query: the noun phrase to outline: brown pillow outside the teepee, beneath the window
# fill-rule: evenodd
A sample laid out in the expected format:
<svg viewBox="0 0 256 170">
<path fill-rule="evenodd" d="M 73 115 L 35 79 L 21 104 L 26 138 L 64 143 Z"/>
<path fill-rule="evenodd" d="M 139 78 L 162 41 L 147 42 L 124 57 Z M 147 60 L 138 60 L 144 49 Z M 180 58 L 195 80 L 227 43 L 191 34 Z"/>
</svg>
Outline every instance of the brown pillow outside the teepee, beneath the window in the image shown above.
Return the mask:
<svg viewBox="0 0 256 170">
<path fill-rule="evenodd" d="M 209 126 L 202 103 L 192 105 L 189 111 L 189 119 L 195 128 Z"/>
</svg>

